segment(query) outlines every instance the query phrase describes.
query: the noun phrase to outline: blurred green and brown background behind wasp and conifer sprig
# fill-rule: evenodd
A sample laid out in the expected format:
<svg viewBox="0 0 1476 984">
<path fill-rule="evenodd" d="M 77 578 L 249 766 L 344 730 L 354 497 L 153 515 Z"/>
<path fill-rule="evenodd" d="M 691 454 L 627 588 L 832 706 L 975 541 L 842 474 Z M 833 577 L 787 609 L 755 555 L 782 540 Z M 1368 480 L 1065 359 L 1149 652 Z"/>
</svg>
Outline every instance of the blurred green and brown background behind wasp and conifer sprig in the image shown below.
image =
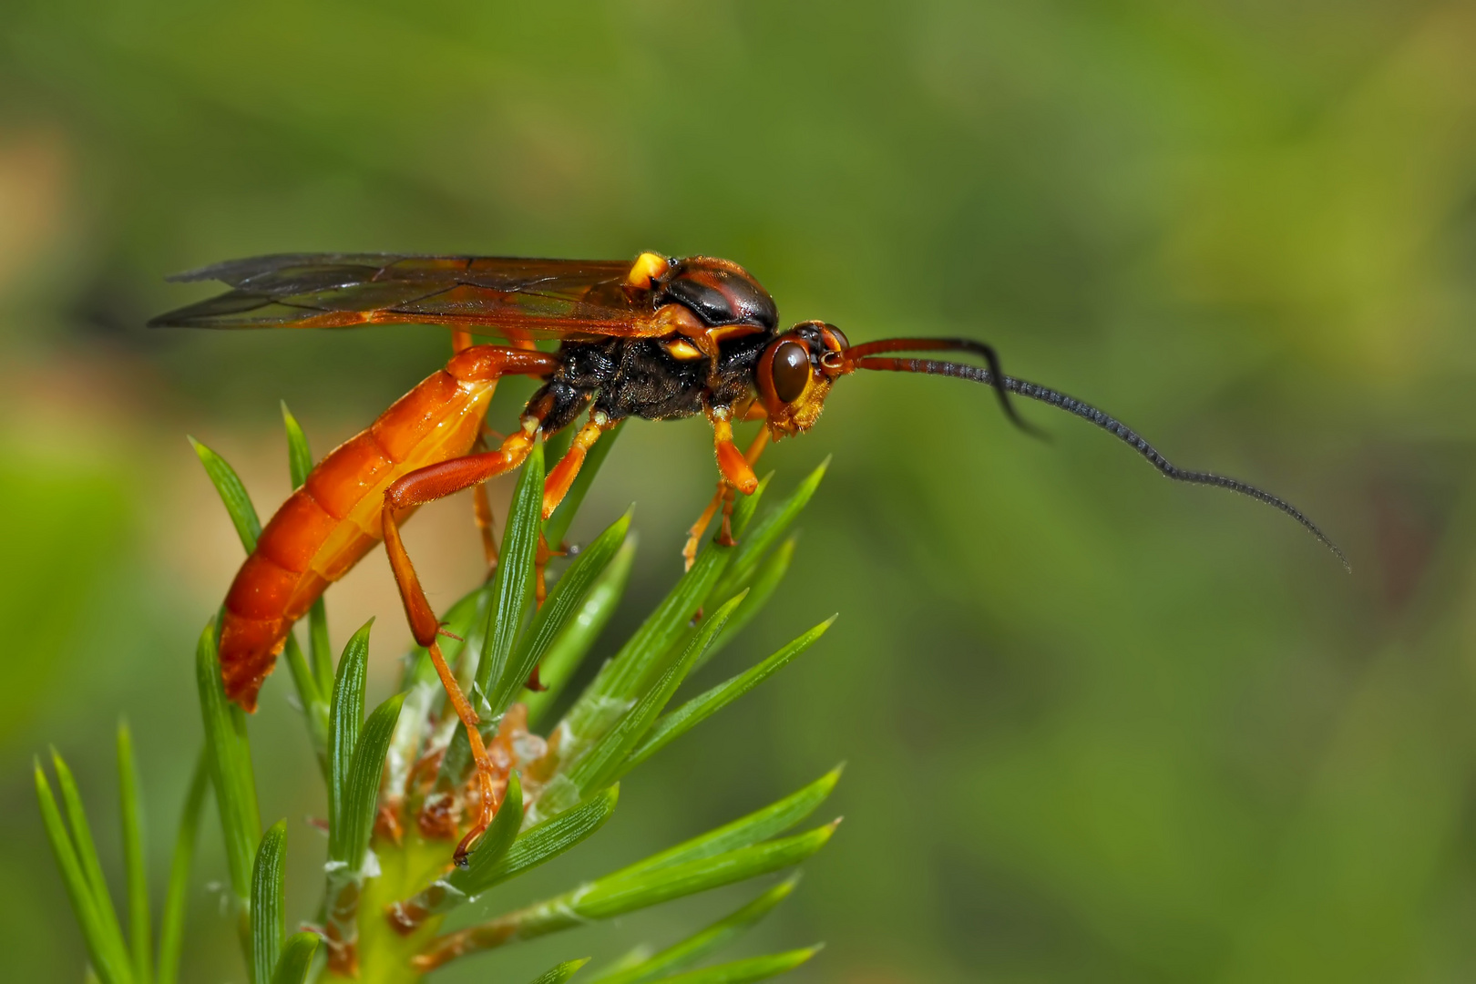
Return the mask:
<svg viewBox="0 0 1476 984">
<path fill-rule="evenodd" d="M 25 980 L 83 965 L 31 755 L 55 742 L 111 831 L 128 716 L 156 884 L 167 866 L 193 639 L 239 562 L 184 434 L 269 510 L 279 398 L 322 453 L 444 358 L 435 329 L 142 328 L 204 294 L 167 273 L 314 249 L 729 257 L 785 320 L 989 339 L 1175 462 L 1287 496 L 1353 561 L 1049 409 L 1026 407 L 1038 443 L 976 387 L 847 381 L 768 457 L 776 488 L 834 466 L 790 590 L 708 673 L 841 620 L 638 773 L 543 887 L 844 758 L 846 825 L 754 944 L 825 940 L 794 980 L 1476 972 L 1476 3 L 0 15 L 0 952 Z M 701 422 L 621 437 L 582 518 L 638 503 L 607 651 L 679 572 L 711 472 Z M 407 538 L 434 602 L 475 583 L 466 502 Z M 407 639 L 384 562 L 329 611 L 339 645 L 381 615 L 382 695 Z M 272 680 L 252 729 L 295 921 L 323 807 L 286 692 Z M 186 975 L 239 981 L 199 887 L 224 878 L 213 825 Z M 707 904 L 447 980 L 666 943 Z"/>
</svg>

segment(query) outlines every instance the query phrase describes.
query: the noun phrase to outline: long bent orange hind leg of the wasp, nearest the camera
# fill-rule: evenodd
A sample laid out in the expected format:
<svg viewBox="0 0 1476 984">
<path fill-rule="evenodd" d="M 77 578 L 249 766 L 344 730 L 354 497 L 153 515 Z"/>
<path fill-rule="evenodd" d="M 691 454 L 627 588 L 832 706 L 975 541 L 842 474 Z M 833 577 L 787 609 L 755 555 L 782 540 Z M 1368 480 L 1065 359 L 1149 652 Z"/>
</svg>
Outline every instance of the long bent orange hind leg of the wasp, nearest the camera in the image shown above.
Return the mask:
<svg viewBox="0 0 1476 984">
<path fill-rule="evenodd" d="M 441 679 L 441 686 L 446 687 L 452 707 L 456 708 L 456 716 L 466 727 L 466 739 L 471 744 L 472 758 L 477 763 L 481 813 L 466 836 L 462 838 L 462 842 L 456 845 L 458 865 L 465 863 L 471 844 L 487 829 L 496 811 L 493 764 L 487 758 L 487 748 L 483 745 L 481 732 L 477 730 L 477 711 L 466 699 L 466 695 L 462 693 L 461 686 L 456 683 L 456 676 L 446 664 L 446 658 L 437 645 L 435 636 L 440 630 L 440 621 L 425 597 L 425 590 L 421 587 L 415 567 L 410 564 L 410 555 L 404 550 L 404 543 L 400 538 L 400 527 L 394 516 L 401 509 L 444 499 L 518 468 L 533 448 L 533 441 L 537 438 L 537 428 L 539 419 L 536 416 L 525 416 L 523 428 L 508 437 L 496 451 L 453 457 L 449 462 L 413 471 L 391 484 L 384 493 L 384 547 L 390 558 L 390 567 L 394 569 L 396 584 L 400 587 L 406 620 L 410 623 L 415 642 L 425 646 L 431 654 L 431 662 L 435 664 L 435 673 Z"/>
</svg>

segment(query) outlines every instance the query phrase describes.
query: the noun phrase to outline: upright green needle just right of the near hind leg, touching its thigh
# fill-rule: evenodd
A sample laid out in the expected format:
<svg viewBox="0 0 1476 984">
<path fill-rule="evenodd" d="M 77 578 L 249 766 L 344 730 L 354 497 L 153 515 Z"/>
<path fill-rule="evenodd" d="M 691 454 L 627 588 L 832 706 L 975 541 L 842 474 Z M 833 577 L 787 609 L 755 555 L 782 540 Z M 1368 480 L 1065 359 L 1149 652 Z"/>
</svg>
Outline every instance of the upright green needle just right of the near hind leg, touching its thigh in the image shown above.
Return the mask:
<svg viewBox="0 0 1476 984">
<path fill-rule="evenodd" d="M 512 643 L 523 628 L 523 618 L 533 606 L 533 569 L 542 521 L 543 446 L 534 444 L 518 475 L 508 507 L 508 524 L 502 533 L 502 552 L 497 556 L 492 606 L 487 612 L 487 643 L 477 667 L 477 689 L 481 693 L 490 695 L 493 682 L 502 679 L 512 655 Z"/>
</svg>

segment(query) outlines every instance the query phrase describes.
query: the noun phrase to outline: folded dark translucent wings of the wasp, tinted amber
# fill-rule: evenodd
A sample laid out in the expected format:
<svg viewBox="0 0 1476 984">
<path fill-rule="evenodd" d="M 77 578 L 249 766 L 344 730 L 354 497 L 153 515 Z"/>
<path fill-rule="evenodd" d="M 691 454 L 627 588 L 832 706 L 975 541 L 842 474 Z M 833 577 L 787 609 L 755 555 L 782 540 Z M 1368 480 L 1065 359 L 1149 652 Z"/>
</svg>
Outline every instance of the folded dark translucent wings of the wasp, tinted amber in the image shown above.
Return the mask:
<svg viewBox="0 0 1476 984">
<path fill-rule="evenodd" d="M 155 328 L 456 325 L 508 338 L 644 335 L 646 295 L 624 289 L 623 260 L 276 254 L 171 280 L 232 289 L 149 322 Z"/>
</svg>

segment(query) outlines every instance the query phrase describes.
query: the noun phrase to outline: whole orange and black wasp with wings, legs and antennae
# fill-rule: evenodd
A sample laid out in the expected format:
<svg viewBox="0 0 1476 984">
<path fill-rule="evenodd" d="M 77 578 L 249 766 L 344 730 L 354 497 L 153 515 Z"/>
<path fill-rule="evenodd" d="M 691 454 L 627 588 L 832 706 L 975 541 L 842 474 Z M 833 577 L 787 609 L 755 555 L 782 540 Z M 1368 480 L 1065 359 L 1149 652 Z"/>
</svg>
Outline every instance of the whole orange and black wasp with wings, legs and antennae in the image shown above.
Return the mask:
<svg viewBox="0 0 1476 984">
<path fill-rule="evenodd" d="M 1172 465 L 1101 410 L 1007 376 L 995 350 L 983 342 L 887 338 L 852 345 L 825 322 L 800 322 L 781 332 L 773 298 L 728 260 L 675 260 L 655 252 L 644 252 L 635 263 L 282 254 L 233 260 L 173 279 L 220 280 L 230 291 L 156 317 L 152 326 L 431 323 L 453 330 L 455 354 L 446 367 L 319 462 L 267 522 L 226 596 L 220 665 L 227 696 L 254 710 L 292 623 L 382 540 L 410 630 L 430 651 L 466 727 L 483 783 L 481 816 L 458 847 L 459 860 L 492 819 L 492 764 L 477 713 L 437 645 L 440 623 L 400 540 L 400 525 L 415 507 L 475 487 L 477 521 L 489 564 L 494 564 L 483 482 L 518 468 L 540 435 L 562 431 L 580 416 L 584 422 L 568 453 L 545 481 L 545 518 L 568 491 L 589 448 L 620 420 L 707 416 L 720 478 L 716 496 L 689 531 L 683 549 L 688 567 L 719 510 L 717 538 L 732 543 L 734 496 L 757 487 L 753 466 L 765 446 L 809 429 L 835 381 L 859 369 L 984 384 L 995 389 L 1005 415 L 1026 429 L 1013 395 L 1075 413 L 1131 446 L 1168 478 L 1218 485 L 1280 509 L 1348 567 L 1342 550 L 1286 500 L 1234 478 Z M 506 344 L 474 344 L 472 335 L 494 335 Z M 558 341 L 556 351 L 540 351 L 540 339 Z M 964 353 L 983 366 L 906 353 Z M 533 376 L 543 385 L 524 407 L 518 428 L 490 450 L 483 419 L 506 375 Z M 747 450 L 734 444 L 734 423 L 742 420 L 763 422 Z M 540 561 L 548 553 L 545 544 Z M 542 569 L 536 583 L 542 593 Z"/>
</svg>

